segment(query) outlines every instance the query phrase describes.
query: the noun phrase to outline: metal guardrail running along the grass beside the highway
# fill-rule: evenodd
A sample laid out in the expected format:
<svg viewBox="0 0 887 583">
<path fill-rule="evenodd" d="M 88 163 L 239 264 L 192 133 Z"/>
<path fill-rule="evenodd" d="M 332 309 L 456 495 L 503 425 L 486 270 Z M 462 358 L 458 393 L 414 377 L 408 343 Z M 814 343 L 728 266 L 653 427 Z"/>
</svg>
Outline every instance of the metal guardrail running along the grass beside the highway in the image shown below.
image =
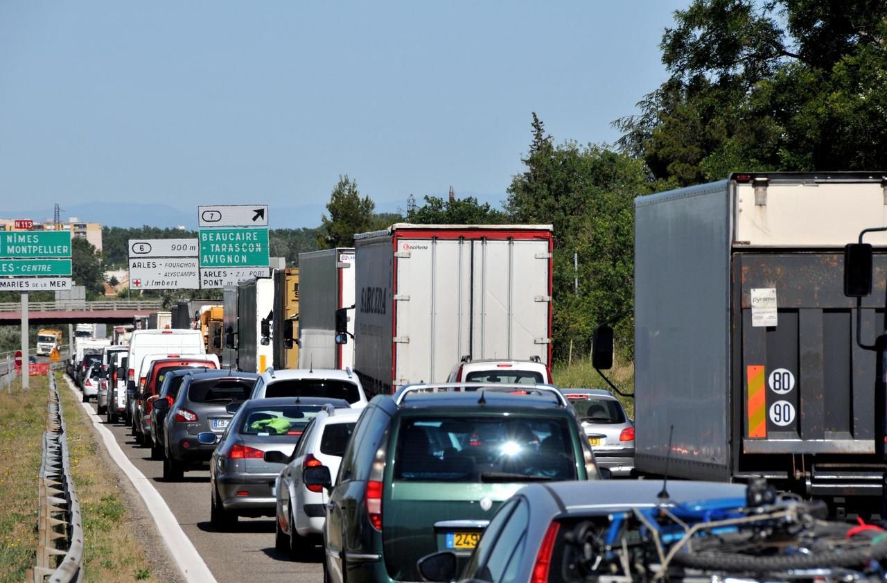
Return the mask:
<svg viewBox="0 0 887 583">
<path fill-rule="evenodd" d="M 69 583 L 83 579 L 83 528 L 80 503 L 68 463 L 65 419 L 55 375 L 50 373 L 49 416 L 43 432 L 37 512 L 37 557 L 29 580 Z M 63 555 L 63 556 L 62 556 Z M 58 566 L 53 557 L 62 556 Z"/>
</svg>

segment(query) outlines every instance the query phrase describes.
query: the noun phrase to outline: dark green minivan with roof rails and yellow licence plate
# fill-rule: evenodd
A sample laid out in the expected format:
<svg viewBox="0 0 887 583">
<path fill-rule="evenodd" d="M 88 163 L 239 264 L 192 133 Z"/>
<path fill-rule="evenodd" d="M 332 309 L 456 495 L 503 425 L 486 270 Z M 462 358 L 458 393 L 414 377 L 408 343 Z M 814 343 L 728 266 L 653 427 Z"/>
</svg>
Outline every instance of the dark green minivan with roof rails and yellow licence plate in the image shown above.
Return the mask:
<svg viewBox="0 0 887 583">
<path fill-rule="evenodd" d="M 325 580 L 421 580 L 441 550 L 467 561 L 498 507 L 528 482 L 598 479 L 573 408 L 549 386 L 413 385 L 380 396 L 357 421 L 331 485 Z"/>
</svg>

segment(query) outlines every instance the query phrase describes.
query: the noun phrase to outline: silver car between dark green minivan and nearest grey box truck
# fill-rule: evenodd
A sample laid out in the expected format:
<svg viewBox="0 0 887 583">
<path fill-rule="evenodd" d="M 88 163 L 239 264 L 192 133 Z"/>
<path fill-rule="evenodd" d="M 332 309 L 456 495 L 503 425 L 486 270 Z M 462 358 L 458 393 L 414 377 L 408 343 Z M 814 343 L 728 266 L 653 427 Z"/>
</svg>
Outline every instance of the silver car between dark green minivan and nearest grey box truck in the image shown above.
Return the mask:
<svg viewBox="0 0 887 583">
<path fill-rule="evenodd" d="M 634 422 L 622 404 L 606 390 L 561 389 L 576 409 L 585 429 L 594 459 L 613 477 L 631 476 L 634 471 Z"/>
</svg>

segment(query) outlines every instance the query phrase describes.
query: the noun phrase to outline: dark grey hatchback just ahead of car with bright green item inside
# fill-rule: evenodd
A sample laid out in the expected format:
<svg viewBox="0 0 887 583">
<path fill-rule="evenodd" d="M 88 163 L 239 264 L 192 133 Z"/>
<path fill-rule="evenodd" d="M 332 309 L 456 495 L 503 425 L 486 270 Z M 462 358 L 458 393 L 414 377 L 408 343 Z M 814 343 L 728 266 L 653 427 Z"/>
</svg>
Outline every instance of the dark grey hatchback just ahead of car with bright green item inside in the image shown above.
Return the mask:
<svg viewBox="0 0 887 583">
<path fill-rule="evenodd" d="M 172 406 L 156 400 L 158 414 L 169 409 L 163 431 L 163 479 L 178 480 L 189 469 L 206 469 L 216 439 L 200 439 L 201 433 L 221 436 L 233 417 L 232 403 L 249 398 L 258 374 L 213 371 L 188 374 Z"/>
</svg>

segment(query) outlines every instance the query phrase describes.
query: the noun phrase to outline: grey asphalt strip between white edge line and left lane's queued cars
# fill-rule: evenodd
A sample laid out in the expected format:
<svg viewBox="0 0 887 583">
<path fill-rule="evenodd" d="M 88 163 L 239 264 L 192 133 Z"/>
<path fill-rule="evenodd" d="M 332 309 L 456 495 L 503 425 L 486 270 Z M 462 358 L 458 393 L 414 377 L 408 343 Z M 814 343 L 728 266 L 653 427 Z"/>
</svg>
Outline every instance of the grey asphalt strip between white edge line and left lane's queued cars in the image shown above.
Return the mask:
<svg viewBox="0 0 887 583">
<path fill-rule="evenodd" d="M 95 401 L 90 401 L 93 411 Z M 102 415 L 102 419 L 105 416 Z M 130 428 L 107 424 L 123 453 L 166 500 L 178 524 L 191 539 L 219 583 L 320 583 L 324 579 L 321 551 L 300 563 L 274 550 L 274 520 L 243 518 L 231 532 L 217 532 L 209 524 L 209 470 L 185 472 L 181 482 L 163 481 L 163 463 L 151 460 L 151 450 L 138 447 Z"/>
</svg>

